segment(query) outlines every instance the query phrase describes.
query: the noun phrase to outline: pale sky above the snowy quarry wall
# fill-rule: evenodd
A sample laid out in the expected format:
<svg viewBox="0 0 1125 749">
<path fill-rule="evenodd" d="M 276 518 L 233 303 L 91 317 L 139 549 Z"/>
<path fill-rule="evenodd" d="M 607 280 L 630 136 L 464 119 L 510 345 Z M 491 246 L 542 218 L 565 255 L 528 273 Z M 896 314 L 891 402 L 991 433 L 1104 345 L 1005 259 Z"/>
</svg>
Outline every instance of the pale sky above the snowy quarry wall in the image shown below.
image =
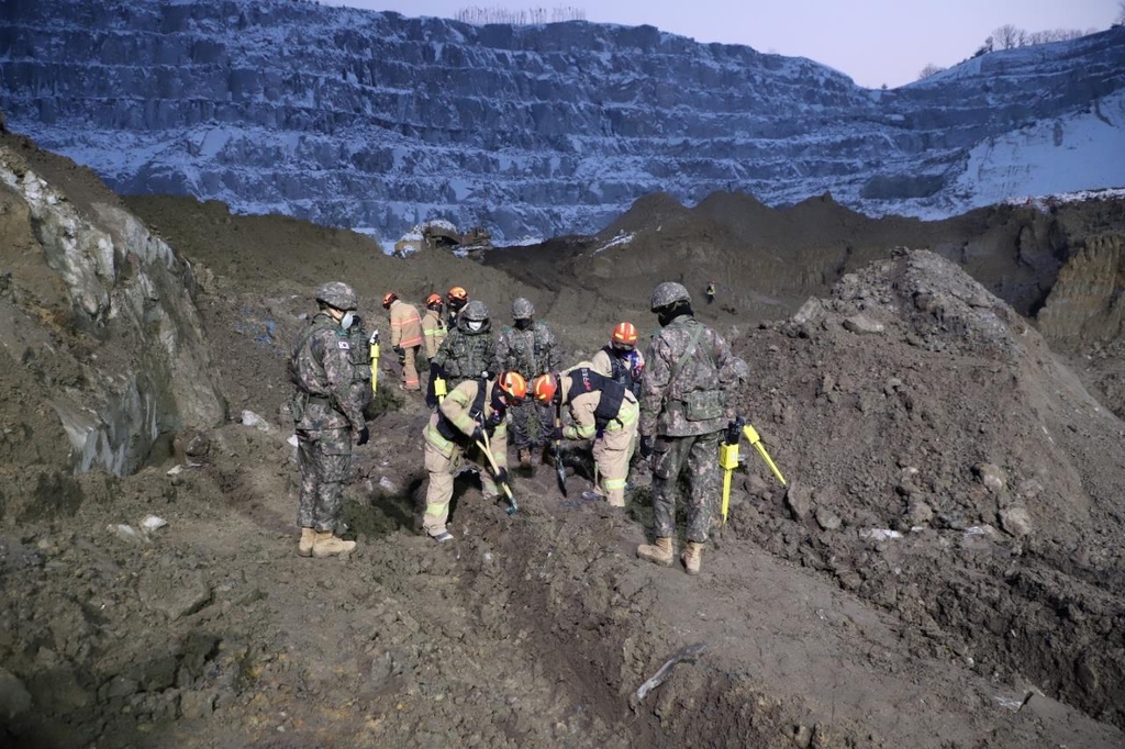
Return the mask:
<svg viewBox="0 0 1125 749">
<path fill-rule="evenodd" d="M 1105 29 L 1119 0 L 321 0 L 404 16 L 452 18 L 465 8 L 580 9 L 586 20 L 648 24 L 698 42 L 747 44 L 759 52 L 810 57 L 860 85 L 897 87 L 927 63 L 946 67 L 970 56 L 992 29 Z"/>
</svg>

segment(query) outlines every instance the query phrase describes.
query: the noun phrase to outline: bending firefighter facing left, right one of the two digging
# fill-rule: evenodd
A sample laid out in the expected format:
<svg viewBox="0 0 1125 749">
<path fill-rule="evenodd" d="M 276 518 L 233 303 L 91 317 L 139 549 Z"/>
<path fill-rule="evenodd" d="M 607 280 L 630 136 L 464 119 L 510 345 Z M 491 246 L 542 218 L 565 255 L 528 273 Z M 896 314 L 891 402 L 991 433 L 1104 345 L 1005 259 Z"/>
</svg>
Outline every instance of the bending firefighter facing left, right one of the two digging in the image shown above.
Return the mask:
<svg viewBox="0 0 1125 749">
<path fill-rule="evenodd" d="M 584 361 L 560 374 L 537 377 L 532 392 L 540 403 L 569 407 L 574 424 L 556 427 L 552 440 L 594 441 L 594 462 L 602 475 L 601 486 L 583 493 L 583 498 L 605 498 L 614 507 L 624 507 L 629 458 L 640 414 L 632 390 Z"/>
</svg>

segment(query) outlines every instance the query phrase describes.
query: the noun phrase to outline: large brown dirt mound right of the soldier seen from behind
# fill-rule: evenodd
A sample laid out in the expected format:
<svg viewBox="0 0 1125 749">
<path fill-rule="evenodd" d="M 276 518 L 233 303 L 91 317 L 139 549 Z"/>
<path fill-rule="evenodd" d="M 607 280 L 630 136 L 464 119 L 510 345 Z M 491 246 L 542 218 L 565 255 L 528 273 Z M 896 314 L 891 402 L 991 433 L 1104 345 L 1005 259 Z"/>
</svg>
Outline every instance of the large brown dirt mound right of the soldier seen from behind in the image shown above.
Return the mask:
<svg viewBox="0 0 1125 749">
<path fill-rule="evenodd" d="M 764 504 L 737 533 L 897 613 L 932 655 L 1125 724 L 1125 424 L 1023 318 L 898 253 L 739 349 L 744 406 L 795 485 L 750 479 Z"/>
</svg>

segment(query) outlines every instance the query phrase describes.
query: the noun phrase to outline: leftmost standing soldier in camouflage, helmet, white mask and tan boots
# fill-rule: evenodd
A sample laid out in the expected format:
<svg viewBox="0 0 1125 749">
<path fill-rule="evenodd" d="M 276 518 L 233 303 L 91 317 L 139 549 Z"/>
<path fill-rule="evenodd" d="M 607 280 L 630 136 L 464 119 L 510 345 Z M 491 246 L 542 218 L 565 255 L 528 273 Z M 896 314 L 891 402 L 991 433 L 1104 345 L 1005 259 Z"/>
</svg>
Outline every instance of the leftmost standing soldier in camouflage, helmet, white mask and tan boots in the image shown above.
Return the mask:
<svg viewBox="0 0 1125 749">
<path fill-rule="evenodd" d="M 302 557 L 348 553 L 354 541 L 336 536 L 343 509 L 343 482 L 351 467 L 352 439 L 366 444 L 370 433 L 352 361 L 349 332 L 358 306 L 346 283 L 325 283 L 316 292 L 320 312 L 298 334 L 289 360 L 296 386 L 292 416 L 300 469 L 297 524 Z"/>
</svg>

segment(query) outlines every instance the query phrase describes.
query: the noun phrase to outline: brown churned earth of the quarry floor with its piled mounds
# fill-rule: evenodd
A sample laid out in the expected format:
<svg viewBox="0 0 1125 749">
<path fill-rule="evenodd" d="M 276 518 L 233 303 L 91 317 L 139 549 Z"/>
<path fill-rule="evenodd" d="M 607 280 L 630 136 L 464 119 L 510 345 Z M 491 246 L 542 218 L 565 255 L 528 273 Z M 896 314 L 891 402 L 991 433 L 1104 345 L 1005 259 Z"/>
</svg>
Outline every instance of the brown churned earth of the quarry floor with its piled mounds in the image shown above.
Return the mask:
<svg viewBox="0 0 1125 749">
<path fill-rule="evenodd" d="M 27 157 L 65 177 L 75 205 L 110 199 L 64 160 Z M 231 417 L 169 435 L 132 476 L 73 478 L 71 502 L 0 507 L 0 742 L 1122 746 L 1125 425 L 1026 317 L 1119 209 L 997 209 L 938 242 L 918 241 L 938 227 L 903 219 L 871 238 L 828 201 L 792 209 L 808 211 L 798 220 L 729 197 L 693 211 L 657 200 L 605 236 L 482 265 L 390 259 L 348 232 L 218 204 L 127 199 L 191 262 Z M 30 265 L 36 227 L 8 205 L 0 228 L 25 240 L 4 265 Z M 633 244 L 594 253 L 626 228 Z M 1023 249 L 1001 242 L 1012 235 Z M 980 282 L 942 258 L 954 245 Z M 384 330 L 375 300 L 390 289 L 459 283 L 497 324 L 523 294 L 576 357 L 620 318 L 650 326 L 651 282 L 677 276 L 693 290 L 720 281 L 718 308 L 700 314 L 750 362 L 739 405 L 791 485 L 744 443 L 700 578 L 638 563 L 647 491 L 624 514 L 576 502 L 582 466 L 569 500 L 547 470 L 519 477 L 512 517 L 465 477 L 457 541 L 417 536 L 426 413 L 397 394 L 357 453 L 358 552 L 294 553 L 284 362 L 316 285 L 353 282 Z M 42 339 L 25 346 L 35 361 L 106 345 L 68 327 L 62 287 L 24 278 L 8 278 L 0 306 Z M 1119 344 L 1090 336 L 1081 346 L 1109 371 Z M 61 470 L 44 366 L 6 350 L 0 412 L 24 425 L 4 431 L 6 470 Z M 240 423 L 244 409 L 262 428 Z M 112 527 L 150 514 L 168 526 Z M 641 683 L 694 643 L 702 655 L 633 709 Z"/>
</svg>

